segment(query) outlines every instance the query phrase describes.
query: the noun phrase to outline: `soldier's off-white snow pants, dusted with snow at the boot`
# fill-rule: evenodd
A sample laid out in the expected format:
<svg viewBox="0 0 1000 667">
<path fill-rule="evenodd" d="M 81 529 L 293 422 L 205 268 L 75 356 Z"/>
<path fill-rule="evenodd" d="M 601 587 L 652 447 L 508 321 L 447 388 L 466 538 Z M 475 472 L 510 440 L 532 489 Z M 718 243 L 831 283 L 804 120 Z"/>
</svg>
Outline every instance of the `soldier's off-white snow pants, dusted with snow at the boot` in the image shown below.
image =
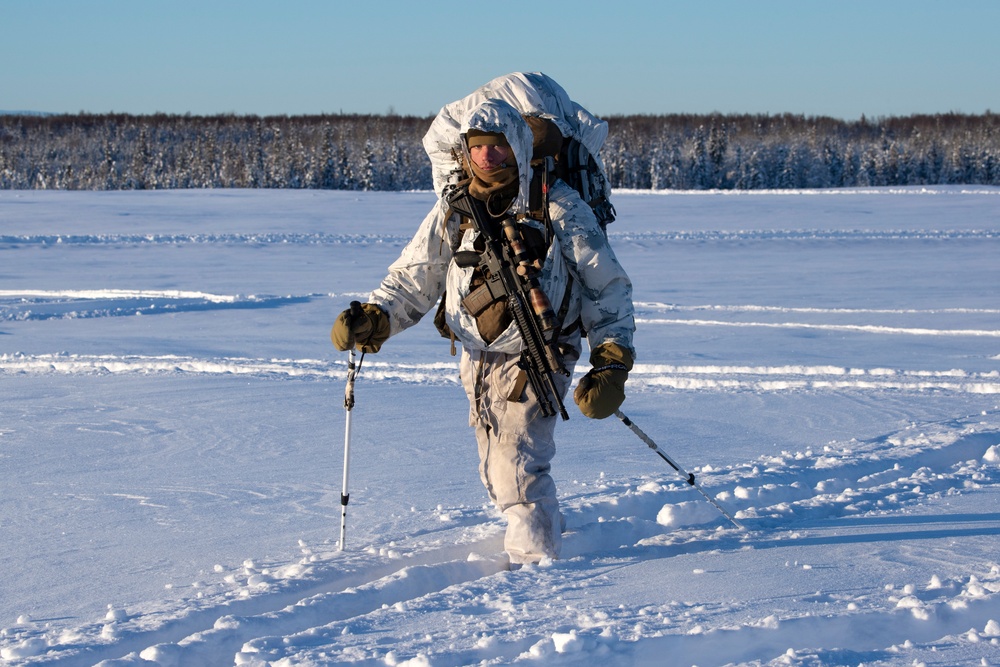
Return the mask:
<svg viewBox="0 0 1000 667">
<path fill-rule="evenodd" d="M 579 334 L 573 342 L 563 357 L 570 373 L 580 357 Z M 504 549 L 511 563 L 535 563 L 558 558 L 562 545 L 562 517 L 549 475 L 561 418 L 541 415 L 530 385 L 511 396 L 521 375 L 519 358 L 463 347 L 460 371 L 479 445 L 479 476 L 507 519 Z M 557 374 L 555 381 L 565 396 L 570 378 Z"/>
</svg>

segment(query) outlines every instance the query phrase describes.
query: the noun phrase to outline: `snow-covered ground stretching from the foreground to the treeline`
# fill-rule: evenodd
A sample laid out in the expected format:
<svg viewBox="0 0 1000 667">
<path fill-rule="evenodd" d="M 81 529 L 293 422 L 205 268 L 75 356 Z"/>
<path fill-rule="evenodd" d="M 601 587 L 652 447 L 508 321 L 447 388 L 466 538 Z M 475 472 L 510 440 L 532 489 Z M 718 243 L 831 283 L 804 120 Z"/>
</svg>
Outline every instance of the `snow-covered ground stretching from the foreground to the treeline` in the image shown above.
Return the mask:
<svg viewBox="0 0 1000 667">
<path fill-rule="evenodd" d="M 616 194 L 640 358 L 509 572 L 430 322 L 329 326 L 428 193 L 0 192 L 9 665 L 998 665 L 1000 189 Z M 580 369 L 585 370 L 585 369 Z"/>
</svg>

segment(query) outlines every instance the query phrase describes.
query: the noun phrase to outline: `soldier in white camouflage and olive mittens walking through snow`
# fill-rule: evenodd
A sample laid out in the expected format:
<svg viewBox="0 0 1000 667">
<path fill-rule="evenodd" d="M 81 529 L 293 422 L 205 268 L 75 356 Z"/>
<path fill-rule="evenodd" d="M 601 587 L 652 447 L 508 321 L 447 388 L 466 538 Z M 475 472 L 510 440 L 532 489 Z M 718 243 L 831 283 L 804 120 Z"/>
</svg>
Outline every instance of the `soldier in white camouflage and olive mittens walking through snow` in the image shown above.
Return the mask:
<svg viewBox="0 0 1000 667">
<path fill-rule="evenodd" d="M 525 117 L 500 99 L 472 109 L 461 127 L 463 167 L 469 194 L 496 220 L 514 216 L 542 261 L 540 284 L 559 304 L 556 345 L 572 373 L 581 355 L 581 334 L 590 346 L 591 370 L 574 392 L 580 411 L 610 416 L 625 399 L 632 369 L 635 329 L 632 285 L 608 245 L 606 234 L 576 190 L 562 180 L 548 184 L 541 221 L 531 197 L 533 144 Z M 470 425 L 479 445 L 479 472 L 493 503 L 507 519 L 504 548 L 511 567 L 558 558 L 563 519 L 549 472 L 555 455 L 555 416 L 543 416 L 538 397 L 519 366 L 522 337 L 507 302 L 484 303 L 485 279 L 478 265 L 456 255 L 482 252 L 478 233 L 450 210 L 435 204 L 414 238 L 368 302 L 361 317 L 345 310 L 331 338 L 339 350 L 378 352 L 392 335 L 414 325 L 444 296 L 444 319 L 462 344 L 460 374 L 468 394 Z M 570 377 L 556 375 L 565 395 Z"/>
</svg>

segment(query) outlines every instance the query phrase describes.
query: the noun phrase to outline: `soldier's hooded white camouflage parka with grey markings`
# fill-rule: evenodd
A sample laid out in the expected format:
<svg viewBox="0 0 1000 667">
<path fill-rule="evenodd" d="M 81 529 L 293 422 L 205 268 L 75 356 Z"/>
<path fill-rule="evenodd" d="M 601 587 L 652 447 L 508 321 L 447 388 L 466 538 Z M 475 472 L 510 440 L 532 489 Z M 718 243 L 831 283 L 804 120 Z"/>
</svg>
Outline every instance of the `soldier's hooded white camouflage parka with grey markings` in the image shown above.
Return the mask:
<svg viewBox="0 0 1000 667">
<path fill-rule="evenodd" d="M 520 190 L 511 205 L 519 216 L 528 211 L 531 181 L 531 130 L 520 113 L 502 100 L 487 100 L 473 109 L 462 124 L 462 141 L 470 128 L 502 132 L 517 159 Z M 613 342 L 635 358 L 632 335 L 635 330 L 632 283 L 622 268 L 590 207 L 576 190 L 556 181 L 550 187 L 548 212 L 553 239 L 545 257 L 540 281 L 557 311 L 567 286 L 571 290 L 563 327 L 580 318 L 591 349 Z M 416 324 L 446 294 L 446 321 L 467 349 L 518 354 L 521 336 L 517 325 L 487 344 L 479 335 L 475 318 L 461 301 L 470 291 L 474 268 L 459 267 L 452 261 L 453 239 L 463 234 L 457 250 L 472 250 L 475 230 L 460 232 L 458 215 L 448 216 L 447 202 L 439 199 L 424 218 L 413 239 L 390 267 L 369 302 L 389 316 L 390 335 Z M 522 224 L 542 229 L 542 224 L 525 218 Z M 572 280 L 570 280 L 572 276 Z"/>
</svg>

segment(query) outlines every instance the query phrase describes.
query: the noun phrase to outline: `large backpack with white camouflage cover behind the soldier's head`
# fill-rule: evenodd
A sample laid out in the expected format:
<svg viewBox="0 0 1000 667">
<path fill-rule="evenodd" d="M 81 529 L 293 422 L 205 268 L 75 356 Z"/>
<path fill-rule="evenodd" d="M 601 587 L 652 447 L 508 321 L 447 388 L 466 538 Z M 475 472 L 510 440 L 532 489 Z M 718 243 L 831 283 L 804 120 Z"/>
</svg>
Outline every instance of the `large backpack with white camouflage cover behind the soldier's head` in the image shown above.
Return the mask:
<svg viewBox="0 0 1000 667">
<path fill-rule="evenodd" d="M 580 193 L 603 228 L 615 219 L 611 204 L 611 184 L 600 158 L 600 150 L 608 136 L 608 124 L 570 99 L 566 91 L 541 72 L 513 72 L 493 79 L 476 91 L 446 104 L 438 112 L 424 135 L 423 145 L 431 160 L 434 190 L 441 196 L 444 189 L 463 176 L 460 129 L 462 119 L 488 99 L 502 99 L 521 112 L 536 135 L 536 153 L 532 156 L 536 178 L 561 178 Z M 546 144 L 539 154 L 539 128 L 536 122 L 555 128 L 561 137 Z M 547 158 L 551 158 L 548 160 Z M 545 165 L 543 169 L 538 167 Z M 534 189 L 535 186 L 533 186 Z M 537 207 L 532 203 L 532 210 Z"/>
</svg>

